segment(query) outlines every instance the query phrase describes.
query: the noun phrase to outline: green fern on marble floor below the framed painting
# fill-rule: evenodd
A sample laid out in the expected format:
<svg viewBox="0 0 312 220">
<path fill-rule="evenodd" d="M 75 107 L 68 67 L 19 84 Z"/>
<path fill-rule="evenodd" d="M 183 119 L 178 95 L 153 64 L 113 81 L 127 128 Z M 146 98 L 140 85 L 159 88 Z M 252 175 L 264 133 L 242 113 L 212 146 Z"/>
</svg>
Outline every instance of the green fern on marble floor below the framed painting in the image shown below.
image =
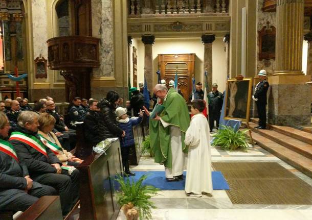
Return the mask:
<svg viewBox="0 0 312 220">
<path fill-rule="evenodd" d="M 246 132 L 248 132 L 249 129 L 235 132 L 234 129 L 229 126 L 222 125 L 221 127 L 222 129 L 219 129 L 213 136 L 212 146 L 220 146 L 221 149 L 230 151 L 237 149 L 247 150 L 249 136 Z"/>
</svg>

